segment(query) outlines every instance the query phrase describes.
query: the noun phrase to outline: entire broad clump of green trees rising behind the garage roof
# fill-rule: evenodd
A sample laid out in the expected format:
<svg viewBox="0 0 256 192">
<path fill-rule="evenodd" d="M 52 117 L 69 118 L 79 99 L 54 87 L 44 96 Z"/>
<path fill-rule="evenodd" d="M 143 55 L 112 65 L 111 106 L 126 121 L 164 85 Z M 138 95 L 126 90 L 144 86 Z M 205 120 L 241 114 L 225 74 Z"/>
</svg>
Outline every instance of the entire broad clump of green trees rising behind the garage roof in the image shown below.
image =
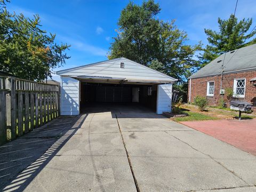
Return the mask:
<svg viewBox="0 0 256 192">
<path fill-rule="evenodd" d="M 199 62 L 194 55 L 201 44 L 187 44 L 187 34 L 174 25 L 157 18 L 161 11 L 153 0 L 142 5 L 132 2 L 122 10 L 117 36 L 110 46 L 109 59 L 126 57 L 185 81 Z"/>
</svg>

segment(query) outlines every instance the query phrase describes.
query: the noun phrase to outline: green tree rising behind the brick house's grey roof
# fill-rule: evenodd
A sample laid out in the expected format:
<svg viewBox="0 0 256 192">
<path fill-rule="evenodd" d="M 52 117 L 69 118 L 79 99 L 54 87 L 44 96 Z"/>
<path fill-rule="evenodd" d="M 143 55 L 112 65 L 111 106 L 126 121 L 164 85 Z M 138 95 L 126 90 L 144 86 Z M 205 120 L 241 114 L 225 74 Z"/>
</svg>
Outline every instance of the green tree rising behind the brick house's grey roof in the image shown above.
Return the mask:
<svg viewBox="0 0 256 192">
<path fill-rule="evenodd" d="M 218 23 L 219 31 L 204 29 L 209 45 L 206 45 L 200 57 L 203 65 L 219 57 L 222 53 L 256 43 L 256 38 L 250 41 L 256 34 L 256 30 L 247 33 L 252 25 L 252 19 L 242 19 L 238 22 L 235 15 L 231 14 L 227 20 L 218 18 Z"/>
</svg>

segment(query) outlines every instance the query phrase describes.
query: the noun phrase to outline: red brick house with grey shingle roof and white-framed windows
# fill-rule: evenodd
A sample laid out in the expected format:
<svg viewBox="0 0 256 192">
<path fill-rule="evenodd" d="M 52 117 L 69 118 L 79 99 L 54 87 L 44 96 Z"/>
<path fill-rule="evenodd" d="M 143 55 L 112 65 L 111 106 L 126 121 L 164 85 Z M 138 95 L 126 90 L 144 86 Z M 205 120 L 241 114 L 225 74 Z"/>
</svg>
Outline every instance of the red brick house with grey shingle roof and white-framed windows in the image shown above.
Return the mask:
<svg viewBox="0 0 256 192">
<path fill-rule="evenodd" d="M 188 101 L 193 102 L 197 95 L 201 95 L 210 105 L 218 105 L 222 97 L 227 101 L 226 93 L 220 93 L 227 88 L 233 90 L 233 99 L 256 106 L 256 44 L 223 53 L 191 75 L 188 78 Z"/>
</svg>

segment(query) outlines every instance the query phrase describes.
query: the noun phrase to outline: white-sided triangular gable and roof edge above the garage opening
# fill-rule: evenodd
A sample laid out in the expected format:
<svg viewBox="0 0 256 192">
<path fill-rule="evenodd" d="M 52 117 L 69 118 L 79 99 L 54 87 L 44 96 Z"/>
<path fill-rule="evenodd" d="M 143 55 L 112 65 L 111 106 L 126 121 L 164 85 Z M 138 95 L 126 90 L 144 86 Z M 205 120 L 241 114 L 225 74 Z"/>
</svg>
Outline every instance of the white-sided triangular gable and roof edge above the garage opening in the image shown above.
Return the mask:
<svg viewBox="0 0 256 192">
<path fill-rule="evenodd" d="M 173 83 L 177 79 L 126 58 L 117 58 L 57 71 L 60 76 L 86 82 Z"/>
</svg>

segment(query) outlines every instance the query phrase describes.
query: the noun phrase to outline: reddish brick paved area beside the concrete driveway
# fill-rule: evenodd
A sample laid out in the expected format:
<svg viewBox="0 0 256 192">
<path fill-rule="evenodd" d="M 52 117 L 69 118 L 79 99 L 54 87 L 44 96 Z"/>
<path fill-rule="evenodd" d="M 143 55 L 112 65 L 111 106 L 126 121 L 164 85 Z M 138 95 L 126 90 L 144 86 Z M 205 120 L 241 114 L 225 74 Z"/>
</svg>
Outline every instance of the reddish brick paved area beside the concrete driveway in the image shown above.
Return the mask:
<svg viewBox="0 0 256 192">
<path fill-rule="evenodd" d="M 256 119 L 181 123 L 256 155 Z"/>
</svg>

